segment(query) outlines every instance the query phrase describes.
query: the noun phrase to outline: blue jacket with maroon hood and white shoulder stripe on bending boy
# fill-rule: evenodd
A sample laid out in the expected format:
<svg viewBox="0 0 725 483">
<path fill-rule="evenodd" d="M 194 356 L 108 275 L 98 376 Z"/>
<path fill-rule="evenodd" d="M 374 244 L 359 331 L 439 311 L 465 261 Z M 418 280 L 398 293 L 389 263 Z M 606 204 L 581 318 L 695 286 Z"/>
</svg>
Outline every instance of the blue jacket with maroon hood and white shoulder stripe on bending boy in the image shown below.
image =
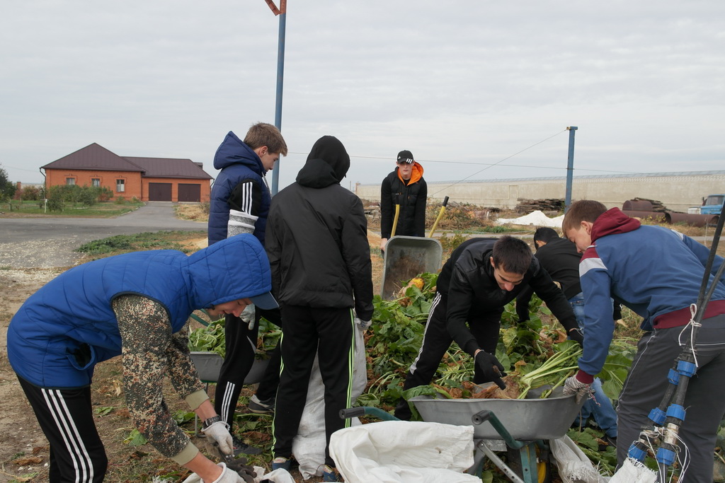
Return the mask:
<svg viewBox="0 0 725 483">
<path fill-rule="evenodd" d="M 591 235 L 592 245 L 579 264 L 587 335 L 579 369 L 595 376 L 604 366 L 614 332 L 610 298 L 641 316 L 643 330 L 687 324 L 709 250 L 674 230 L 642 226 L 618 208 L 600 215 Z M 710 283 L 722 263 L 717 256 Z M 703 319 L 718 314 L 725 314 L 725 277 L 719 280 Z"/>
</svg>

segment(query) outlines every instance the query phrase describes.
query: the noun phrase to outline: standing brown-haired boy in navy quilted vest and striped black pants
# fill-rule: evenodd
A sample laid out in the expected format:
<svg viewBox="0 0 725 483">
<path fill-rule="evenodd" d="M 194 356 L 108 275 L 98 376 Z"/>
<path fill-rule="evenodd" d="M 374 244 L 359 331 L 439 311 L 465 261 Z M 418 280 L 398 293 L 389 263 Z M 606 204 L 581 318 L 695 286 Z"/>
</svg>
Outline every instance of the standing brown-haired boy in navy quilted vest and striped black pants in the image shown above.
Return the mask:
<svg viewBox="0 0 725 483">
<path fill-rule="evenodd" d="M 244 141 L 231 131 L 214 156 L 214 167 L 221 172 L 212 187 L 209 209 L 209 245 L 236 233 L 253 233 L 264 245 L 267 214 L 271 195 L 265 174 L 274 169 L 280 156 L 287 155 L 287 145 L 277 127 L 258 122 L 249 127 Z M 262 312 L 264 312 L 262 314 Z M 281 324 L 279 311 L 257 310 L 249 306 L 241 320 L 234 314 L 225 316 L 226 356 L 220 369 L 214 407 L 231 427 L 244 379 L 254 364 L 260 318 Z M 271 413 L 279 382 L 279 350 L 273 350 L 268 369 L 257 392 L 249 400 L 249 411 Z M 261 453 L 233 435 L 234 453 Z"/>
</svg>

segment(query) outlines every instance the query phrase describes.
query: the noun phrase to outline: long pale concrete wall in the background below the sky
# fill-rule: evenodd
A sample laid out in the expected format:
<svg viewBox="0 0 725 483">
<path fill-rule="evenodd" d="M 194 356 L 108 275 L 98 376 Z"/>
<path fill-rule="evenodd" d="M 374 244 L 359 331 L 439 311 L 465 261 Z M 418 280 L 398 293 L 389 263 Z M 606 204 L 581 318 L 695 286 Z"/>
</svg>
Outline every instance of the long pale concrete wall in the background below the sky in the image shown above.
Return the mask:
<svg viewBox="0 0 725 483">
<path fill-rule="evenodd" d="M 484 180 L 471 182 L 428 181 L 428 200 L 472 203 L 480 206 L 514 208 L 518 198 L 542 199 L 565 198 L 566 178 L 521 178 L 518 180 Z M 360 198 L 380 200 L 380 185 L 355 186 Z M 684 211 L 690 206 L 700 206 L 702 198 L 712 193 L 725 193 L 725 171 L 659 173 L 630 176 L 582 176 L 574 177 L 571 199 L 601 201 L 608 208 L 632 198 L 648 198 L 661 201 L 672 211 Z"/>
</svg>

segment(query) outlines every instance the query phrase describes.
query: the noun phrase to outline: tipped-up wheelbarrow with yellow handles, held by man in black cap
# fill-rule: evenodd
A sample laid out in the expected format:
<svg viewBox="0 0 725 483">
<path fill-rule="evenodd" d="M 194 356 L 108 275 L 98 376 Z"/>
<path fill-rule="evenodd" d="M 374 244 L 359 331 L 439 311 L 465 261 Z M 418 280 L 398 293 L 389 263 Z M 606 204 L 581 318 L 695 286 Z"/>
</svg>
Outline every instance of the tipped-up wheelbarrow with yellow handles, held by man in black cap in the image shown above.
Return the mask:
<svg viewBox="0 0 725 483">
<path fill-rule="evenodd" d="M 438 272 L 441 268 L 443 248 L 441 243 L 433 238 L 433 233 L 443 216 L 447 203 L 448 197 L 446 196 L 428 238 L 395 236 L 399 205 L 395 206 L 392 230 L 394 236 L 386 243 L 383 255 L 383 283 L 380 294 L 383 300 L 395 298 L 395 294 L 402 287 L 402 281 L 410 280 L 425 272 Z"/>
</svg>

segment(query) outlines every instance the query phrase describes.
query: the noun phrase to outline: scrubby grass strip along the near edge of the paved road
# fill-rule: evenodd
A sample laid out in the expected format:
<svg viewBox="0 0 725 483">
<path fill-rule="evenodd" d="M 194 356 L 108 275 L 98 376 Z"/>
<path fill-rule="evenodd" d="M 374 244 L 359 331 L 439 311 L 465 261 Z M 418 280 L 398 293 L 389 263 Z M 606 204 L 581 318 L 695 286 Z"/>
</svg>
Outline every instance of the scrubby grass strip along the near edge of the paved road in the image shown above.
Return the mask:
<svg viewBox="0 0 725 483">
<path fill-rule="evenodd" d="M 130 251 L 146 250 L 178 250 L 191 253 L 194 248 L 188 246 L 188 241 L 194 238 L 206 237 L 207 232 L 144 232 L 136 235 L 115 235 L 101 240 L 93 240 L 80 245 L 75 251 L 86 253 L 94 259 L 105 256 L 128 253 Z"/>
</svg>

